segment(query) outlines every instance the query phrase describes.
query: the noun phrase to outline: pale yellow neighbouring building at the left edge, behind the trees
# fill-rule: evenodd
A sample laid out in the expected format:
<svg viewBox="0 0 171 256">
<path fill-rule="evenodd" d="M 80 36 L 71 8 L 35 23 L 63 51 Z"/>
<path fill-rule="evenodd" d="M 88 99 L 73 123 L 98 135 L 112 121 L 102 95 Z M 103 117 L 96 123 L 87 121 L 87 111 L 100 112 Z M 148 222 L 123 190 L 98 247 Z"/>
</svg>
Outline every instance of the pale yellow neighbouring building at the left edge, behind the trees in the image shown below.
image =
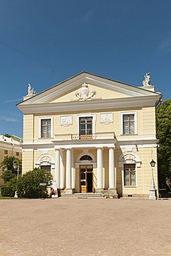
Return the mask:
<svg viewBox="0 0 171 256">
<path fill-rule="evenodd" d="M 14 156 L 22 159 L 22 140 L 21 138 L 12 136 L 10 138 L 0 135 L 0 163 L 6 156 Z M 0 170 L 0 176 L 2 171 Z M 0 186 L 3 185 L 3 179 L 0 178 Z"/>
</svg>

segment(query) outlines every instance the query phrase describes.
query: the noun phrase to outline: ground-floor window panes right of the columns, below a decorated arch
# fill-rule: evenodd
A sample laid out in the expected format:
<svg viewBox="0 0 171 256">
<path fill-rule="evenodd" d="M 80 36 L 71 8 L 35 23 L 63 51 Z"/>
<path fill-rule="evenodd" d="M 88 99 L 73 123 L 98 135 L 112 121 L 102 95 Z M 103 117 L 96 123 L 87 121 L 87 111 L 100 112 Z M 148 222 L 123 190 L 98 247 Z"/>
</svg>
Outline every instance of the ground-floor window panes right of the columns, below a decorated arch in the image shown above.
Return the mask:
<svg viewBox="0 0 171 256">
<path fill-rule="evenodd" d="M 124 186 L 135 186 L 136 185 L 136 173 L 134 164 L 124 164 Z"/>
</svg>

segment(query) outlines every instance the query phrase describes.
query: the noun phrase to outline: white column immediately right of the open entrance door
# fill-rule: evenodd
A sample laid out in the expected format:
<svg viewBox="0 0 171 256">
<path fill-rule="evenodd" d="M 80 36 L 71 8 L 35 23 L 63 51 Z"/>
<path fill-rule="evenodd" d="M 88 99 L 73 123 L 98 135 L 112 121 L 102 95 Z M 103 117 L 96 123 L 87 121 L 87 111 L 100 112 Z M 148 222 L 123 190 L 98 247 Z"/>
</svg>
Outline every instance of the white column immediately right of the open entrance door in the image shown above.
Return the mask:
<svg viewBox="0 0 171 256">
<path fill-rule="evenodd" d="M 97 149 L 97 189 L 103 189 L 103 148 Z"/>
</svg>

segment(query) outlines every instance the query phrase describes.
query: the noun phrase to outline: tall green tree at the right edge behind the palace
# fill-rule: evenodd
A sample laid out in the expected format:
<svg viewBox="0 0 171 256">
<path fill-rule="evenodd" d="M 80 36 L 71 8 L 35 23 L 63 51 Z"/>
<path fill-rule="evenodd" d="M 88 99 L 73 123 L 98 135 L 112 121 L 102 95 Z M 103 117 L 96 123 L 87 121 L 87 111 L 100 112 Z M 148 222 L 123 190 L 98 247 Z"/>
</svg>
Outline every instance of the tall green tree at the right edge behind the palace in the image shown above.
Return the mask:
<svg viewBox="0 0 171 256">
<path fill-rule="evenodd" d="M 157 138 L 159 186 L 168 188 L 166 181 L 171 178 L 171 100 L 165 100 L 157 107 Z"/>
</svg>

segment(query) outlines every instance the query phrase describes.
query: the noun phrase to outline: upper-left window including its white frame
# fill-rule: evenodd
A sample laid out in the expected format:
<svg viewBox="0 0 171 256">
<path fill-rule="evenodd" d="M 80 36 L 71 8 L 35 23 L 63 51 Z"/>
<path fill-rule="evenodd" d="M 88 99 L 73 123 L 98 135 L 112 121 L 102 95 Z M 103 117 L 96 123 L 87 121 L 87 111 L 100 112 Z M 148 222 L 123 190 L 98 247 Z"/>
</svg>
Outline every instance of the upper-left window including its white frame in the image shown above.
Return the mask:
<svg viewBox="0 0 171 256">
<path fill-rule="evenodd" d="M 39 138 L 51 138 L 52 133 L 52 118 L 39 118 Z"/>
</svg>

